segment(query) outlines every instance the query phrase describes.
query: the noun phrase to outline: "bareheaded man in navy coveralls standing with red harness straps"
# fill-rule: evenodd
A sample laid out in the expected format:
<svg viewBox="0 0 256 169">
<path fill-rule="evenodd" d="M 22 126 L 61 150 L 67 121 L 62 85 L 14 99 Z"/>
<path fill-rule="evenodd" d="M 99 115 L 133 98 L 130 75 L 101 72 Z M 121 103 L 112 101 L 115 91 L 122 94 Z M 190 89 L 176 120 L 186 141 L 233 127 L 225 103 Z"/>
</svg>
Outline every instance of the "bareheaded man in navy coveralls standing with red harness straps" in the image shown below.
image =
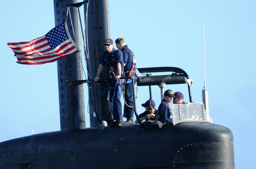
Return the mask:
<svg viewBox="0 0 256 169">
<path fill-rule="evenodd" d="M 118 38 L 115 40 L 116 47 L 123 52 L 124 55 L 124 73 L 125 77 L 133 76 L 134 83 L 136 82 L 135 69 L 133 63 L 134 54 L 131 49 L 125 45 L 123 38 Z M 127 120 L 124 122 L 125 124 L 133 124 L 133 115 L 134 115 L 134 103 L 133 103 L 133 89 L 132 89 L 132 80 L 125 79 L 124 85 L 124 100 L 126 104 L 124 104 L 124 117 Z"/>
</svg>

